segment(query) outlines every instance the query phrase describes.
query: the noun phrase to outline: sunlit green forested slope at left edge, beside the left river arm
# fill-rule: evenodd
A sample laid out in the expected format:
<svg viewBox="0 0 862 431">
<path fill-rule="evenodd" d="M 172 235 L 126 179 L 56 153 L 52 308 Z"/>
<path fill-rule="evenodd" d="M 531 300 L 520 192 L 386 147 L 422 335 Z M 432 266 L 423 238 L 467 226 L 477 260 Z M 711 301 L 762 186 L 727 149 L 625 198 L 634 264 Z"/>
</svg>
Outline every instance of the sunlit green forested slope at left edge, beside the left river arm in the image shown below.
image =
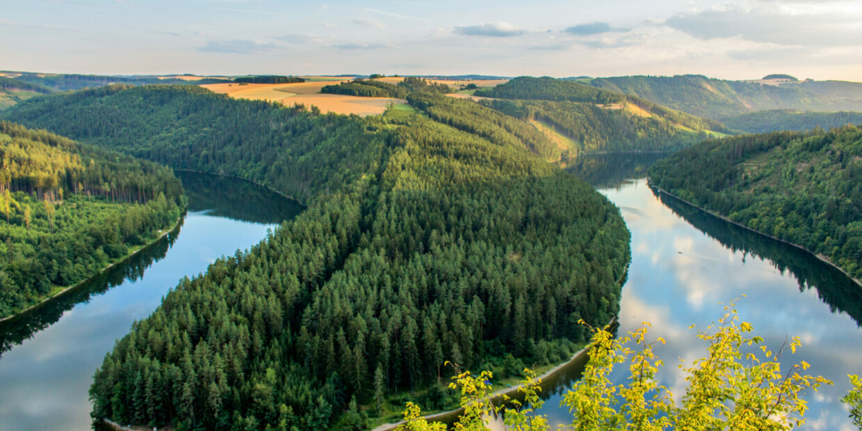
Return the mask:
<svg viewBox="0 0 862 431">
<path fill-rule="evenodd" d="M 182 193 L 164 166 L 0 122 L 0 318 L 172 227 Z"/>
</svg>

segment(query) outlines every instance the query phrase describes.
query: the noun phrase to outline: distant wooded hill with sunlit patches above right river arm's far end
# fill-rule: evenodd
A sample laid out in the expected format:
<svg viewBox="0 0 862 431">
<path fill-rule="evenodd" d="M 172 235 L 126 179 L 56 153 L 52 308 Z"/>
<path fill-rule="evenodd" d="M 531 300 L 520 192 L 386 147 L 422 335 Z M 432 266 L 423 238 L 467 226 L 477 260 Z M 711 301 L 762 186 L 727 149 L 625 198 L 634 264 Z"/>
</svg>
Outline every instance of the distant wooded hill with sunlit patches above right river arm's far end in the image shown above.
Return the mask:
<svg viewBox="0 0 862 431">
<path fill-rule="evenodd" d="M 476 96 L 495 98 L 482 103 L 530 122 L 569 156 L 672 151 L 716 132 L 730 132 L 714 120 L 563 79 L 514 78 L 492 89 L 476 91 Z"/>
</svg>

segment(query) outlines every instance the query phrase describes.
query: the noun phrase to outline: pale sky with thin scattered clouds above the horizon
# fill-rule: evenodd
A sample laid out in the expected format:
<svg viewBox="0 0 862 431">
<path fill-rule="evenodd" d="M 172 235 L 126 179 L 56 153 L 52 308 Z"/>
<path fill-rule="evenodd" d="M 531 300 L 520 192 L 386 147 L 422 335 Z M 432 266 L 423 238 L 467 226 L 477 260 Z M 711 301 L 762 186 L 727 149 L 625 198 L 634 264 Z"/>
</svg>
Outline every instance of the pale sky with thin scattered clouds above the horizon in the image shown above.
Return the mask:
<svg viewBox="0 0 862 431">
<path fill-rule="evenodd" d="M 0 0 L 0 70 L 862 81 L 860 0 Z"/>
</svg>

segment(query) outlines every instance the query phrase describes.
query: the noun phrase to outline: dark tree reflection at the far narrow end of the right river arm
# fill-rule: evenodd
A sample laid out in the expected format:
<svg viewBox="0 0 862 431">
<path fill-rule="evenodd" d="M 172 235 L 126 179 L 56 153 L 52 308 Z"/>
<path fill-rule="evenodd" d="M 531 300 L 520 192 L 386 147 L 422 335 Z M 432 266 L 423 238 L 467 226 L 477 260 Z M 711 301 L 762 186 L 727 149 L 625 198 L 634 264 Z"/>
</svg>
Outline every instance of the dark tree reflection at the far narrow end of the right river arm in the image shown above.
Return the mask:
<svg viewBox="0 0 862 431">
<path fill-rule="evenodd" d="M 565 168 L 598 189 L 619 187 L 632 179 L 645 178 L 647 169 L 667 153 L 608 153 L 578 156 Z"/>
</svg>

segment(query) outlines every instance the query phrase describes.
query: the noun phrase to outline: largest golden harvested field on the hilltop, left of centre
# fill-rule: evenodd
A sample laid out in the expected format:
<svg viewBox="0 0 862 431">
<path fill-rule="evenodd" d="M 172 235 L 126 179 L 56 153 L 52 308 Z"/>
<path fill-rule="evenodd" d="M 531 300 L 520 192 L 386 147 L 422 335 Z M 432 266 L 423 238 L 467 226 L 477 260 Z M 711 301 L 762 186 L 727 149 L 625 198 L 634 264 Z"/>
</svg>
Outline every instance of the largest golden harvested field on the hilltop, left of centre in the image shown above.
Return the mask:
<svg viewBox="0 0 862 431">
<path fill-rule="evenodd" d="M 355 97 L 340 94 L 321 94 L 325 85 L 338 84 L 349 78 L 334 81 L 304 82 L 295 84 L 207 84 L 203 88 L 230 97 L 266 100 L 287 106 L 304 104 L 316 106 L 322 112 L 335 114 L 356 114 L 357 116 L 376 116 L 383 114 L 390 104 L 407 103 L 403 99 L 389 97 Z"/>
</svg>

